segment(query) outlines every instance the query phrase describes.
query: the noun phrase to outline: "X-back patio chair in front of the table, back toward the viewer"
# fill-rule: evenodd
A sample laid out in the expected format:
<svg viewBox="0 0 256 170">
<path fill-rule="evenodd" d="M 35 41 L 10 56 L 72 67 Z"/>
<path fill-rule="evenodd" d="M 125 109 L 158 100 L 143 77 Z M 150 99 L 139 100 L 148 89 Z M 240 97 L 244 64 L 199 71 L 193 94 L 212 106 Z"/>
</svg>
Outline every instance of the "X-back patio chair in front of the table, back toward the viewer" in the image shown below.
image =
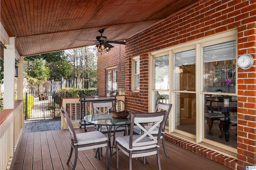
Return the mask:
<svg viewBox="0 0 256 170">
<path fill-rule="evenodd" d="M 129 156 L 129 170 L 132 169 L 132 158 L 146 157 L 156 154 L 158 169 L 161 169 L 160 156 L 159 156 L 159 143 L 164 128 L 164 117 L 166 111 L 155 113 L 133 113 L 131 117 L 130 135 L 116 137 L 116 169 L 118 169 L 119 151 L 121 150 Z M 145 129 L 142 123 L 152 123 L 150 129 Z M 137 125 L 143 134 L 133 134 L 134 124 Z M 158 127 L 158 135 L 154 137 L 151 131 Z M 120 150 L 119 150 L 120 149 Z"/>
</svg>

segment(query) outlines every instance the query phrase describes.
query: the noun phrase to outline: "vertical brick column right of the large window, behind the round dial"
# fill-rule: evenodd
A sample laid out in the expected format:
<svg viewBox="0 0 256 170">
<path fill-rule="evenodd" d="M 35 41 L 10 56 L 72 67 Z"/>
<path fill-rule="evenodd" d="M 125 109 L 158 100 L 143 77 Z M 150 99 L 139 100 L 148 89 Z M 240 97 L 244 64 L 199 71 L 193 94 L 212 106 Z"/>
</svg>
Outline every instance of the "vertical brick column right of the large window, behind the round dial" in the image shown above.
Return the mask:
<svg viewBox="0 0 256 170">
<path fill-rule="evenodd" d="M 238 170 L 256 165 L 256 23 L 255 16 L 243 20 L 238 27 L 238 57 L 249 53 L 254 65 L 238 68 Z"/>
</svg>

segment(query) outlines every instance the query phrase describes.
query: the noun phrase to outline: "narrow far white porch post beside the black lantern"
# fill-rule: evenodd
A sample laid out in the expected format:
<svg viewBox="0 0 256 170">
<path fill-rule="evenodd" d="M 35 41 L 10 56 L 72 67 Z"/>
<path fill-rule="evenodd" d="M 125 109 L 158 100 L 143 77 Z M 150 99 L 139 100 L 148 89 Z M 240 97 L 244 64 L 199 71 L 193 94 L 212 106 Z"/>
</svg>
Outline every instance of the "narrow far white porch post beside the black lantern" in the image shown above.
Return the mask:
<svg viewBox="0 0 256 170">
<path fill-rule="evenodd" d="M 24 57 L 20 56 L 17 78 L 17 100 L 23 100 L 23 59 Z"/>
</svg>

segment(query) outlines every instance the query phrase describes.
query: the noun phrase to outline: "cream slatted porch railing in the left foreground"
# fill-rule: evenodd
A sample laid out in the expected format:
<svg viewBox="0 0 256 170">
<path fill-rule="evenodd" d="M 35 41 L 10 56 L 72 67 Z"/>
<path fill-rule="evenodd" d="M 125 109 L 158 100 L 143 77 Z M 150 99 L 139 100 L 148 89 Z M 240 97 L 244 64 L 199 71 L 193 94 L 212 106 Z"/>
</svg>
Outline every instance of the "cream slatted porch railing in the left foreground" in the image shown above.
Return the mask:
<svg viewBox="0 0 256 170">
<path fill-rule="evenodd" d="M 0 122 L 0 169 L 9 169 L 15 159 L 14 153 L 23 134 L 24 127 L 23 101 L 15 102 L 14 109 L 1 111 Z"/>
</svg>

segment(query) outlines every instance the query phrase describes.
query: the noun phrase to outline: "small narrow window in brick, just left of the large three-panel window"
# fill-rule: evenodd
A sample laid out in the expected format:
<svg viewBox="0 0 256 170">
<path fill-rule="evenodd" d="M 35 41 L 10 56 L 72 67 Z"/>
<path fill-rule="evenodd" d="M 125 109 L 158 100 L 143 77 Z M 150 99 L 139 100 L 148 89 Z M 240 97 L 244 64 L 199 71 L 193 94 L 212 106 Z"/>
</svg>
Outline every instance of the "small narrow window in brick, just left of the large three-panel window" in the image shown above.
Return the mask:
<svg viewBox="0 0 256 170">
<path fill-rule="evenodd" d="M 132 90 L 140 90 L 140 57 L 132 59 Z"/>
</svg>

